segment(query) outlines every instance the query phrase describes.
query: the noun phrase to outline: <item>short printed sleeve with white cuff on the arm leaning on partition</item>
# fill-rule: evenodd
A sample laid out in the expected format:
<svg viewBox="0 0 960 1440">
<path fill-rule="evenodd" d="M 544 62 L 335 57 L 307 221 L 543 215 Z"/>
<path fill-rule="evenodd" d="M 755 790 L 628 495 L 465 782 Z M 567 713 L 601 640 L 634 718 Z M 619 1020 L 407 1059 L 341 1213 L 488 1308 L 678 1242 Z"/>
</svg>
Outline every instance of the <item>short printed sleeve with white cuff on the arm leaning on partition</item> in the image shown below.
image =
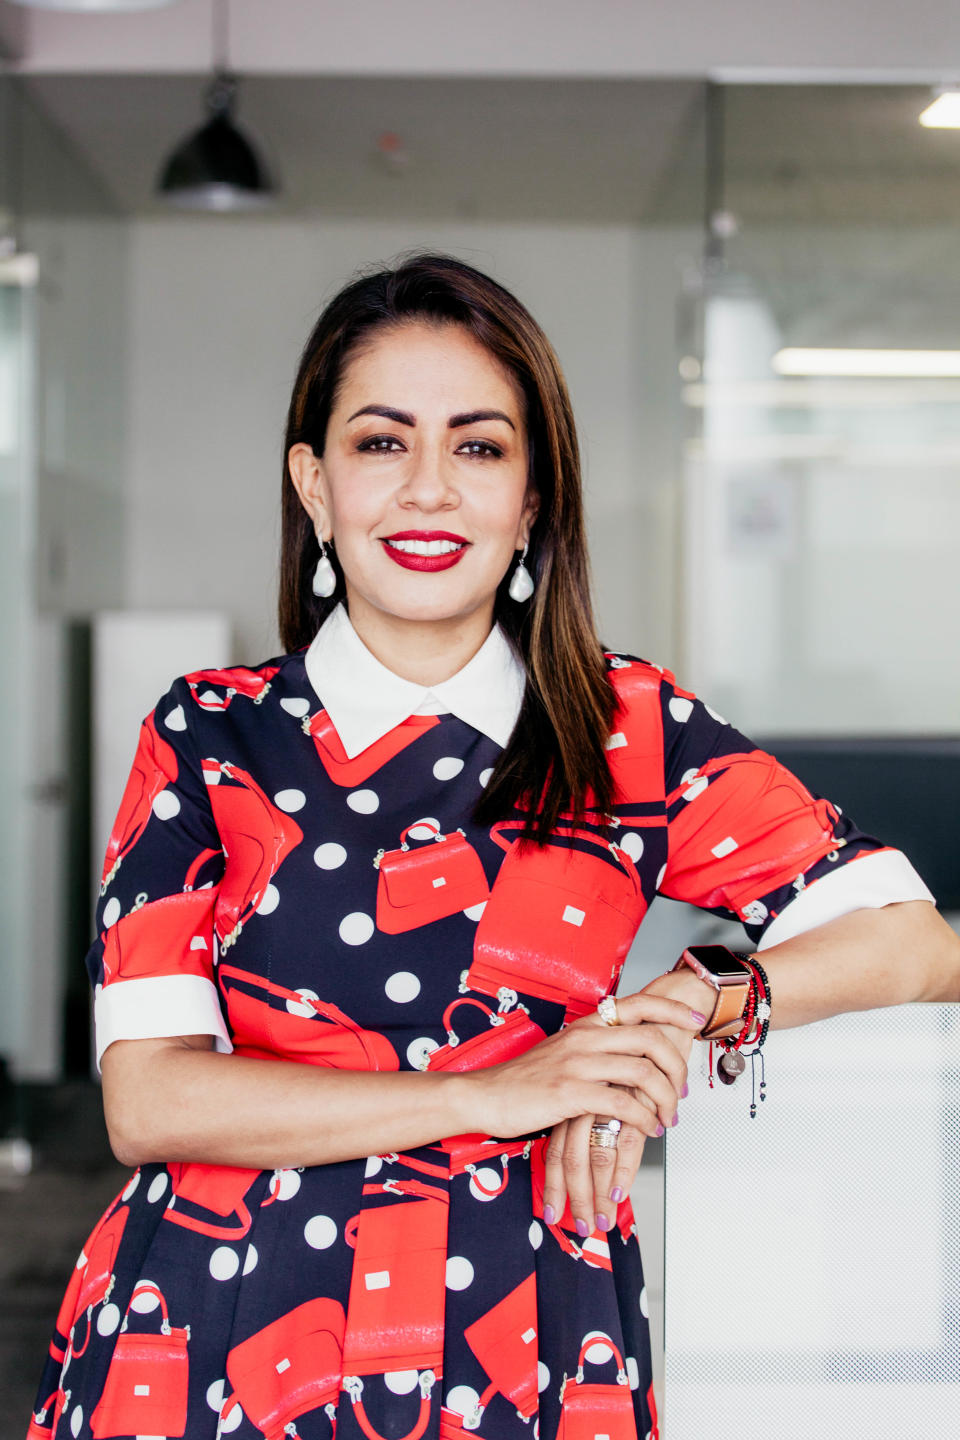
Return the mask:
<svg viewBox="0 0 960 1440">
<path fill-rule="evenodd" d="M 933 901 L 901 851 L 858 829 L 669 672 L 661 711 L 662 894 L 741 920 L 757 949 L 851 910 Z"/>
</svg>

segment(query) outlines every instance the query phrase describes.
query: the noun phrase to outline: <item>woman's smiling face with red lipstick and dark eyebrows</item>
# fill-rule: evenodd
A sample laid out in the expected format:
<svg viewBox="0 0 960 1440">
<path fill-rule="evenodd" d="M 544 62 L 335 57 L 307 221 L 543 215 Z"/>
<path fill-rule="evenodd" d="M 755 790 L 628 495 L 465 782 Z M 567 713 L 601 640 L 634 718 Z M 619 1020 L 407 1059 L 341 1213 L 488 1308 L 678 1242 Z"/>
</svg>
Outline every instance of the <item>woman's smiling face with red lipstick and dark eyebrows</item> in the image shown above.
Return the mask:
<svg viewBox="0 0 960 1440">
<path fill-rule="evenodd" d="M 459 325 L 407 323 L 347 364 L 321 458 L 289 452 L 318 533 L 332 536 L 351 619 L 492 622 L 530 537 L 522 393 Z"/>
</svg>

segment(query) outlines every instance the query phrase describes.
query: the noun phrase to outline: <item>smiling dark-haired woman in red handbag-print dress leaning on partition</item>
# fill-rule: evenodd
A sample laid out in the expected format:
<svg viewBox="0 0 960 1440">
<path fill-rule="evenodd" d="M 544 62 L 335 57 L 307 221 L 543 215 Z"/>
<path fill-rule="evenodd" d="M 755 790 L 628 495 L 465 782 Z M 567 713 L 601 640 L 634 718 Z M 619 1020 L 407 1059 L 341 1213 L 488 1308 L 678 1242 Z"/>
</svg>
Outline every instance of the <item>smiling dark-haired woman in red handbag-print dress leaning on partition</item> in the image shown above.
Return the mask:
<svg viewBox="0 0 960 1440">
<path fill-rule="evenodd" d="M 307 343 L 281 635 L 144 723 L 89 956 L 138 1169 L 32 1434 L 653 1434 L 629 1188 L 720 998 L 689 965 L 607 998 L 646 906 L 744 920 L 741 1040 L 764 1001 L 960 998 L 960 943 L 902 855 L 603 652 L 557 360 L 459 261 L 354 281 Z"/>
</svg>

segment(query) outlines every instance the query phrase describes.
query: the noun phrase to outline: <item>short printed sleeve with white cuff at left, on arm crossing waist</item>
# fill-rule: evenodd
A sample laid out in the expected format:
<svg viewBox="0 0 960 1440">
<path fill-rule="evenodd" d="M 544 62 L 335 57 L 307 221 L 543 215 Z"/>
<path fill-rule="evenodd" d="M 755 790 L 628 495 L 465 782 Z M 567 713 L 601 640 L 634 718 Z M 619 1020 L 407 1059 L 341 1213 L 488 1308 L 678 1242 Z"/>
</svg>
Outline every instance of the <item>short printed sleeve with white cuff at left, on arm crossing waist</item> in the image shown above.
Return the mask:
<svg viewBox="0 0 960 1440">
<path fill-rule="evenodd" d="M 232 1050 L 214 984 L 213 912 L 223 847 L 176 681 L 140 732 L 107 847 L 96 939 L 96 1063 L 114 1040 L 213 1035 Z"/>
</svg>

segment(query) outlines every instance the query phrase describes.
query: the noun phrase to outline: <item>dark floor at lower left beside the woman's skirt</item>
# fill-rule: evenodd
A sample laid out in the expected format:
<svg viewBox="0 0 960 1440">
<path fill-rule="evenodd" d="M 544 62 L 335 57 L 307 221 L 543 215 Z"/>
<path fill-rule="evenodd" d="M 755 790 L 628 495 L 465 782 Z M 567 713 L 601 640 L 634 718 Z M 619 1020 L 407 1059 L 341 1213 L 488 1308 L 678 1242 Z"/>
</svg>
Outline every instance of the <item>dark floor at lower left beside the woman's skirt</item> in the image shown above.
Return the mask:
<svg viewBox="0 0 960 1440">
<path fill-rule="evenodd" d="M 128 1174 L 109 1153 L 99 1089 L 27 1092 L 26 1178 L 0 1174 L 0 1440 L 23 1440 L 60 1297 L 86 1236 Z"/>
</svg>

